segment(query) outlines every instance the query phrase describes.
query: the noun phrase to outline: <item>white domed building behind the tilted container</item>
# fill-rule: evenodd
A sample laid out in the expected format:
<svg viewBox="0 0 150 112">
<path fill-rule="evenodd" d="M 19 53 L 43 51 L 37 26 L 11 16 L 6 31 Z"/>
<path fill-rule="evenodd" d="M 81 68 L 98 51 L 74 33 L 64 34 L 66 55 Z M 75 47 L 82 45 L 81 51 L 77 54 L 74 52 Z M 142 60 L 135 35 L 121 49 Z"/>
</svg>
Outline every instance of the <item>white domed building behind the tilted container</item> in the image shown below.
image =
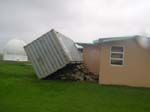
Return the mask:
<svg viewBox="0 0 150 112">
<path fill-rule="evenodd" d="M 7 61 L 28 61 L 24 50 L 25 42 L 18 39 L 10 40 L 3 50 L 3 60 Z"/>
</svg>

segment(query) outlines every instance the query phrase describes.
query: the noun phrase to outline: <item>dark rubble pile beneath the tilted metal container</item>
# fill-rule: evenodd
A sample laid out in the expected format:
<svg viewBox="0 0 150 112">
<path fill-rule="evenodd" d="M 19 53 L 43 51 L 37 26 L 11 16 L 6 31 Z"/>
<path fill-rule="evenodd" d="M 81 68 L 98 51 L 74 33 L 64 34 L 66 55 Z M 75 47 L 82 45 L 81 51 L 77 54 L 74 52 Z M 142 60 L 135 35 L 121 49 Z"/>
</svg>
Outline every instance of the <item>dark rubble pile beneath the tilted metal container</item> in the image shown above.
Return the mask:
<svg viewBox="0 0 150 112">
<path fill-rule="evenodd" d="M 84 64 L 68 64 L 46 79 L 64 79 L 98 82 L 98 75 L 88 71 Z"/>
</svg>

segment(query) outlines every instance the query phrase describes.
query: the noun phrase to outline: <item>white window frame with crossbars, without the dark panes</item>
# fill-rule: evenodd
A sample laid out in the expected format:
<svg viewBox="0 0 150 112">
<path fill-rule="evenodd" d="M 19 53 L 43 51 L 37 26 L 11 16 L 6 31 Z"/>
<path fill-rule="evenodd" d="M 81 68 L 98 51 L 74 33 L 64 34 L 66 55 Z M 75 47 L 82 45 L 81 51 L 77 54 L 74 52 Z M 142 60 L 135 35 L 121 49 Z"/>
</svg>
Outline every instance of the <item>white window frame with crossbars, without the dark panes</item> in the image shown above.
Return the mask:
<svg viewBox="0 0 150 112">
<path fill-rule="evenodd" d="M 123 48 L 123 52 L 112 52 L 111 50 L 112 50 L 112 47 L 122 47 Z M 123 55 L 123 57 L 122 58 L 112 58 L 111 57 L 111 54 L 112 53 L 116 53 L 116 54 L 122 54 Z M 112 65 L 112 66 L 124 66 L 124 53 L 125 53 L 125 46 L 121 46 L 121 45 L 112 45 L 111 47 L 110 47 L 110 65 Z M 121 60 L 122 61 L 122 65 L 117 65 L 117 64 L 112 64 L 111 63 L 111 60 Z"/>
</svg>

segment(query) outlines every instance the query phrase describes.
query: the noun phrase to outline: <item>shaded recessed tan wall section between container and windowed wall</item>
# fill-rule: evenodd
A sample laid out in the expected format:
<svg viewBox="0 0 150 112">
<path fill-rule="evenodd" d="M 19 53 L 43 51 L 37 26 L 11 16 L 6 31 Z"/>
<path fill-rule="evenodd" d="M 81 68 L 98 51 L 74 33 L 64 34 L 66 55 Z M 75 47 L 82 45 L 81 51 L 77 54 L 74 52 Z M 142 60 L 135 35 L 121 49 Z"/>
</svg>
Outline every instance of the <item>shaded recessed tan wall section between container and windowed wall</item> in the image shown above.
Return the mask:
<svg viewBox="0 0 150 112">
<path fill-rule="evenodd" d="M 99 75 L 100 69 L 100 46 L 86 46 L 83 49 L 83 60 L 88 70 Z"/>
</svg>

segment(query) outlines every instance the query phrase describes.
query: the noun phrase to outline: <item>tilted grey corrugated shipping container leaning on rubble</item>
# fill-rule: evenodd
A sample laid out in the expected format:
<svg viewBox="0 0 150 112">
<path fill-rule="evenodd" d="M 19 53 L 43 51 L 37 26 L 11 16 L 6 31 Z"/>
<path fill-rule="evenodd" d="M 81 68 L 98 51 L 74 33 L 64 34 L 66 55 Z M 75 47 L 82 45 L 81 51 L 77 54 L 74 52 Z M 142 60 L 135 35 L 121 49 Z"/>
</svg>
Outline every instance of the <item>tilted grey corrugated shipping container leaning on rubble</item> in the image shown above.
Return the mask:
<svg viewBox="0 0 150 112">
<path fill-rule="evenodd" d="M 51 30 L 24 47 L 38 78 L 45 78 L 82 57 L 73 40 Z"/>
</svg>

